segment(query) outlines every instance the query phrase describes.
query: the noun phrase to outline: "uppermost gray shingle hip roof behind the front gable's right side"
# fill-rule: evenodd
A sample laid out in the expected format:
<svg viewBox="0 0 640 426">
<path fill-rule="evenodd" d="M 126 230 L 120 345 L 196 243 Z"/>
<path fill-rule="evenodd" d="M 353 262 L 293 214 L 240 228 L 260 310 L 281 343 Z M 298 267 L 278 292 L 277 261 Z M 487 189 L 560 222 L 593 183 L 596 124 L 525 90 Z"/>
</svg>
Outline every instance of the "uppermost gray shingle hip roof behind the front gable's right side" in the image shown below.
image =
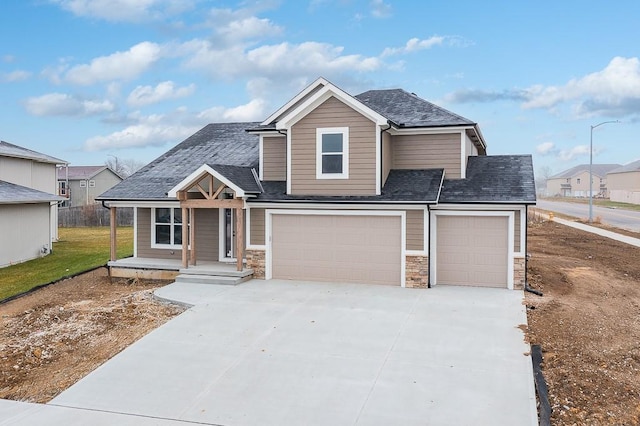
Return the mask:
<svg viewBox="0 0 640 426">
<path fill-rule="evenodd" d="M 400 127 L 476 124 L 402 89 L 369 90 L 355 98 Z"/>
</svg>

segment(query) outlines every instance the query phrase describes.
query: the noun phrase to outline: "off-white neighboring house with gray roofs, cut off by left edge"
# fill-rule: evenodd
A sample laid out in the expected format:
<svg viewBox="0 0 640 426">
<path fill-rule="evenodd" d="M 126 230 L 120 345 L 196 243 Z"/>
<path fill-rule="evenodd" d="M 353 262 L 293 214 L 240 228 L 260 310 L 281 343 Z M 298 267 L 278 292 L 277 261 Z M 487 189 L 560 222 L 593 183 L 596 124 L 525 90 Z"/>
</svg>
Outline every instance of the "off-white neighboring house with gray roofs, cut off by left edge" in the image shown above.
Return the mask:
<svg viewBox="0 0 640 426">
<path fill-rule="evenodd" d="M 0 141 L 0 267 L 35 259 L 58 238 L 56 166 L 65 161 Z"/>
</svg>

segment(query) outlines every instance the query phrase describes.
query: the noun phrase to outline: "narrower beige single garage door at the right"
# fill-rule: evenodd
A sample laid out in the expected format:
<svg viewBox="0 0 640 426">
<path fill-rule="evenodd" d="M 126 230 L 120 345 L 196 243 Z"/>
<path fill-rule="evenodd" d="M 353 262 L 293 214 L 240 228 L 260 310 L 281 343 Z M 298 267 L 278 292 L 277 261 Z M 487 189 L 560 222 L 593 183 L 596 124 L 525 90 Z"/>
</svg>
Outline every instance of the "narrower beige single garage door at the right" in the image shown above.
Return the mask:
<svg viewBox="0 0 640 426">
<path fill-rule="evenodd" d="M 436 284 L 507 287 L 509 219 L 437 217 Z"/>
</svg>

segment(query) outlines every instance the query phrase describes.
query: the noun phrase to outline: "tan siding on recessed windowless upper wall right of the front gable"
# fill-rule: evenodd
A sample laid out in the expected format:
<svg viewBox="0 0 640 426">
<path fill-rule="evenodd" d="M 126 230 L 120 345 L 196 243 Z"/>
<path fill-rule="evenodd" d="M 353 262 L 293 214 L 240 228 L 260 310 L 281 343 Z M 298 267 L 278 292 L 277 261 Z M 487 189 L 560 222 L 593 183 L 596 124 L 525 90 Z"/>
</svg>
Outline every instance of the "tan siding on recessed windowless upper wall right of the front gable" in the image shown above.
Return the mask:
<svg viewBox="0 0 640 426">
<path fill-rule="evenodd" d="M 460 133 L 396 135 L 393 137 L 394 169 L 440 169 L 445 178 L 460 178 Z"/>
</svg>

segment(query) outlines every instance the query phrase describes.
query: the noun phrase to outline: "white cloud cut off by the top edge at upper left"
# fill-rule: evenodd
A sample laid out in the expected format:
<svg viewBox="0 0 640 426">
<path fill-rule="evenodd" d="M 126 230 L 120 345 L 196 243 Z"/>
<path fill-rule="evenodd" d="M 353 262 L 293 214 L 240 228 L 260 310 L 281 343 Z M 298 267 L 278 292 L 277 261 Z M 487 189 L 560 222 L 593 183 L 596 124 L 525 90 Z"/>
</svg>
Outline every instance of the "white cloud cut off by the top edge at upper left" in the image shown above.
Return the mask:
<svg viewBox="0 0 640 426">
<path fill-rule="evenodd" d="M 188 0 L 50 0 L 76 16 L 111 22 L 141 22 L 178 14 L 192 7 Z"/>
</svg>

